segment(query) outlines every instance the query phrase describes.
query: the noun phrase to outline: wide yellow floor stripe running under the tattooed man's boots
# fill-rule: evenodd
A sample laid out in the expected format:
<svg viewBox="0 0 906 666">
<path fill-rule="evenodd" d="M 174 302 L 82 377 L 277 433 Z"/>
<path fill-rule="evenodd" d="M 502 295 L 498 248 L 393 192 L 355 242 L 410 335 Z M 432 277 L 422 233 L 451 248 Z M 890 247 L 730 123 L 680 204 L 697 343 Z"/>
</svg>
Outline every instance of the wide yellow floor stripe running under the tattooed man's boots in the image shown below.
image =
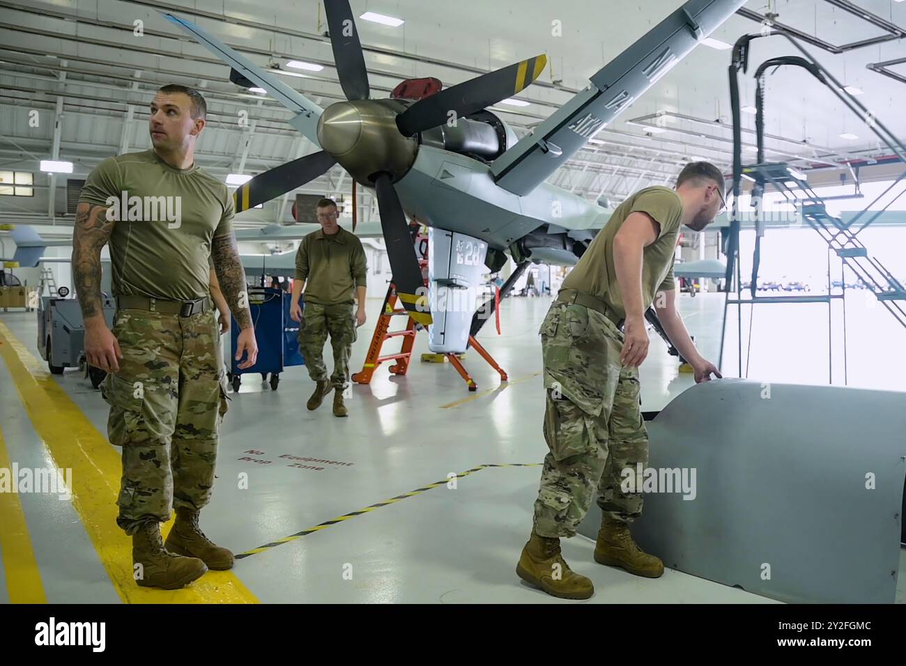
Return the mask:
<svg viewBox="0 0 906 666">
<path fill-rule="evenodd" d="M 0 356 L 34 430 L 57 468 L 72 468 L 72 505 L 125 603 L 259 603 L 231 571 L 209 571 L 182 590 L 139 587 L 130 538 L 116 525 L 122 464 L 118 449 L 92 425 L 43 365 L 0 322 Z M 99 397 L 100 400 L 100 397 Z"/>
</svg>

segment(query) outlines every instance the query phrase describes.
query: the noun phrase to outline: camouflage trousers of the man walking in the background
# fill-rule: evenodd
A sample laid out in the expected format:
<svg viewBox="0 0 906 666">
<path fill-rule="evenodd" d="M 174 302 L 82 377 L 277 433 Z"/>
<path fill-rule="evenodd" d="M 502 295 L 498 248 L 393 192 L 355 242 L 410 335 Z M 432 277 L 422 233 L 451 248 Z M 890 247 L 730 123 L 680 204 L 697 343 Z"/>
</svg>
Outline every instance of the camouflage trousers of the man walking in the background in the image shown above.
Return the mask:
<svg viewBox="0 0 906 666">
<path fill-rule="evenodd" d="M 333 347 L 333 374 L 331 384 L 344 389 L 349 383 L 349 357 L 355 342 L 355 317 L 351 303 L 322 305 L 305 303 L 302 323 L 299 324 L 299 351 L 314 381 L 327 380 L 324 365 L 324 343 L 330 335 Z"/>
</svg>

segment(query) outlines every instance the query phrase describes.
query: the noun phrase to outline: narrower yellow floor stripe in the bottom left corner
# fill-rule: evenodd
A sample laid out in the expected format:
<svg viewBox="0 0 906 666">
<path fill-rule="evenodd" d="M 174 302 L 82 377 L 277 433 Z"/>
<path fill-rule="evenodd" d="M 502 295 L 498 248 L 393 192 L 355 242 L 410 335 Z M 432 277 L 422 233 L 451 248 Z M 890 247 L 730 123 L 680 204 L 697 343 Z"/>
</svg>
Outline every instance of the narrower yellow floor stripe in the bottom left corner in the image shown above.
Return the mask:
<svg viewBox="0 0 906 666">
<path fill-rule="evenodd" d="M 0 430 L 0 469 L 9 470 L 8 474 L 13 469 L 3 430 Z M 16 479 L 10 478 L 10 482 L 15 484 Z M 28 524 L 17 493 L 0 492 L 0 516 L 3 516 L 0 521 L 0 554 L 3 555 L 10 603 L 47 603 L 41 572 L 34 559 L 32 538 L 28 535 Z"/>
</svg>

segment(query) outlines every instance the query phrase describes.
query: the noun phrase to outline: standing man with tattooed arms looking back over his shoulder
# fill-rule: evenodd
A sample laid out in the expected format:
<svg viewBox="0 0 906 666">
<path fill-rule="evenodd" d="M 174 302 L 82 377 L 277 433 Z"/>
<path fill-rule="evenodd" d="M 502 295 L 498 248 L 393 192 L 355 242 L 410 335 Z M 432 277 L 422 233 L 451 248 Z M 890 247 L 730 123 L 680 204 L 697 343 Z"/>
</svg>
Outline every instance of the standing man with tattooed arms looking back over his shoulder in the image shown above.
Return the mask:
<svg viewBox="0 0 906 666">
<path fill-rule="evenodd" d="M 194 160 L 205 114 L 198 91 L 162 87 L 150 104 L 153 148 L 92 170 L 72 239 L 85 355 L 108 372 L 102 386 L 111 408 L 108 436 L 122 448 L 117 524 L 132 537 L 136 583 L 165 589 L 234 564 L 233 554 L 198 526 L 226 411 L 211 267 L 224 298 L 218 307 L 228 304 L 240 329 L 237 367 L 250 367 L 257 354 L 242 297 L 234 200 Z M 117 303 L 112 331 L 100 310 L 101 247 L 108 243 Z M 176 521 L 165 543 L 160 523 L 169 521 L 172 507 Z"/>
</svg>

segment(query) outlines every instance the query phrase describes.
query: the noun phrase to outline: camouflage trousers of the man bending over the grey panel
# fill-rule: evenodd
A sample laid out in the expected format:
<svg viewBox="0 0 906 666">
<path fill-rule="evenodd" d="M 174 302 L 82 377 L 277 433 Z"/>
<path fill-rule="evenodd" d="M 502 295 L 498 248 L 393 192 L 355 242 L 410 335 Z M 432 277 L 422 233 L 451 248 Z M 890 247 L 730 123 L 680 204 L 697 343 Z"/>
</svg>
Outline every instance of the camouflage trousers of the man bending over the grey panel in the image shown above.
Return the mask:
<svg viewBox="0 0 906 666">
<path fill-rule="evenodd" d="M 549 450 L 535 501 L 535 534 L 573 536 L 597 490 L 605 515 L 631 523 L 641 493 L 622 470 L 648 464 L 639 369 L 622 367 L 623 335 L 603 314 L 554 302 L 541 326 Z"/>
</svg>

